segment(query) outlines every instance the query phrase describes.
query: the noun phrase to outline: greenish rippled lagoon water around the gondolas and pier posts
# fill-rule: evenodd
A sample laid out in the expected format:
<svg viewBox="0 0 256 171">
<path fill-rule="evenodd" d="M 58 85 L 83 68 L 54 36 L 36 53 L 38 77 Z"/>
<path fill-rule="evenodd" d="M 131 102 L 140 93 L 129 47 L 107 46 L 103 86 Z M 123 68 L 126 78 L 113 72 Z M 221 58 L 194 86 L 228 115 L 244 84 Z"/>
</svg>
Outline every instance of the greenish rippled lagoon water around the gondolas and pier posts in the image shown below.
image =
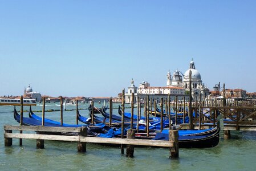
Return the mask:
<svg viewBox="0 0 256 171">
<path fill-rule="evenodd" d="M 79 108 L 88 108 L 88 104 L 80 104 Z M 40 111 L 42 106 L 32 109 Z M 47 104 L 47 109 L 59 109 L 59 103 Z M 75 109 L 75 105 L 68 105 L 67 109 Z M 79 112 L 88 116 L 88 110 Z M 162 148 L 135 148 L 135 157 L 128 158 L 120 148 L 88 143 L 86 153 L 77 152 L 77 143 L 57 141 L 45 141 L 44 149 L 36 149 L 35 140 L 23 140 L 23 146 L 19 146 L 19 140 L 13 139 L 13 146 L 5 147 L 3 125 L 18 123 L 12 106 L 0 106 L 0 116 L 0 170 L 254 170 L 256 166 L 255 132 L 231 132 L 232 139 L 221 140 L 214 148 L 180 149 L 177 160 L 170 160 L 169 150 Z M 28 117 L 27 112 L 24 116 Z M 46 112 L 46 117 L 60 120 L 59 112 Z M 74 124 L 75 111 L 64 111 L 63 120 Z"/>
</svg>

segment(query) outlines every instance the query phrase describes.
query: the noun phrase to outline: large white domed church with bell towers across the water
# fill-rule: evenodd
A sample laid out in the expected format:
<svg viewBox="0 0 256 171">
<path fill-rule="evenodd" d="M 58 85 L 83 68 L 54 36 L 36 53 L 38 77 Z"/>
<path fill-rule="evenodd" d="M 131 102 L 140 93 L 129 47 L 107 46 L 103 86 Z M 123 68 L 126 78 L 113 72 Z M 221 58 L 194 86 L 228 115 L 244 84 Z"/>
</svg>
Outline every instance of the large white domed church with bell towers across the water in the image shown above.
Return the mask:
<svg viewBox="0 0 256 171">
<path fill-rule="evenodd" d="M 168 71 L 166 76 L 166 86 L 168 87 L 182 87 L 186 91 L 189 91 L 189 71 L 191 71 L 191 81 L 192 81 L 192 97 L 193 100 L 199 100 L 200 92 L 201 92 L 201 100 L 204 97 L 209 95 L 209 88 L 205 87 L 202 83 L 201 74 L 196 70 L 196 66 L 194 61 L 190 62 L 189 69 L 183 75 L 180 71 L 176 70 L 173 73 L 173 76 L 170 75 L 170 71 Z M 181 75 L 180 75 L 181 73 Z"/>
</svg>

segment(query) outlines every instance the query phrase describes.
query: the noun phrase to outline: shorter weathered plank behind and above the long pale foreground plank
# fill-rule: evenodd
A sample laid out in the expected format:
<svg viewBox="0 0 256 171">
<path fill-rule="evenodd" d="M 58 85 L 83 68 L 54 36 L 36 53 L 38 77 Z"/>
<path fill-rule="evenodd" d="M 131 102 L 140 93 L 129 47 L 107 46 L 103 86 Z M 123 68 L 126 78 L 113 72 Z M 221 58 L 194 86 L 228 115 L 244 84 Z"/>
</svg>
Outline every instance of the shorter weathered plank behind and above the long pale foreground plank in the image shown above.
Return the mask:
<svg viewBox="0 0 256 171">
<path fill-rule="evenodd" d="M 81 127 L 42 127 L 42 126 L 3 126 L 5 130 L 16 130 L 16 131 L 43 131 L 43 132 L 80 132 Z"/>
</svg>

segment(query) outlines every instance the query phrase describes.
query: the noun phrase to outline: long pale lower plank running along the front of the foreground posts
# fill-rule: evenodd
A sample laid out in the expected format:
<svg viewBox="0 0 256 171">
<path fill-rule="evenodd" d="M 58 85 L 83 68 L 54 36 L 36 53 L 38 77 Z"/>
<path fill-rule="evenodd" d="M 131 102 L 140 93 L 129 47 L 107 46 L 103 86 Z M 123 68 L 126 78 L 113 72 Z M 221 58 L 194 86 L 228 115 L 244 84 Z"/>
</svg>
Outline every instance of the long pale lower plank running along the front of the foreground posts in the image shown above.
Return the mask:
<svg viewBox="0 0 256 171">
<path fill-rule="evenodd" d="M 84 143 L 100 143 L 100 144 L 126 144 L 126 145 L 142 145 L 142 146 L 161 146 L 171 147 L 173 141 L 160 140 L 139 140 L 139 139 L 120 139 L 120 138 L 101 138 L 101 137 L 80 137 L 80 136 L 61 136 L 61 135 L 36 135 L 28 133 L 4 133 L 5 138 L 13 139 L 38 139 L 38 140 L 56 140 L 56 141 L 77 141 Z"/>
</svg>

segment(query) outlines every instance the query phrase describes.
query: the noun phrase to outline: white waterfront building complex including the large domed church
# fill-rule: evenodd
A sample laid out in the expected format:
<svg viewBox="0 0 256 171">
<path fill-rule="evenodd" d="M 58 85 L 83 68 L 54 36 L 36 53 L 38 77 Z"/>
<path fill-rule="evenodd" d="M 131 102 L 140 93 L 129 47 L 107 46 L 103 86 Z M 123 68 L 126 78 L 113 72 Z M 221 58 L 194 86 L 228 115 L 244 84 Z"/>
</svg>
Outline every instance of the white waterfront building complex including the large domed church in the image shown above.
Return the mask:
<svg viewBox="0 0 256 171">
<path fill-rule="evenodd" d="M 143 82 L 137 88 L 132 80 L 131 86 L 128 87 L 128 92 L 125 93 L 125 102 L 131 103 L 131 94 L 135 93 L 135 97 L 141 98 L 149 96 L 149 98 L 159 101 L 161 97 L 167 97 L 170 94 L 170 100 L 174 100 L 177 95 L 178 100 L 189 100 L 189 71 L 192 71 L 192 98 L 193 101 L 203 100 L 209 95 L 209 88 L 205 87 L 201 80 L 201 74 L 196 70 L 196 66 L 192 61 L 190 62 L 189 69 L 182 74 L 178 69 L 174 71 L 173 76 L 170 70 L 166 75 L 166 87 L 151 87 L 148 82 Z M 137 89 L 137 91 L 136 91 Z"/>
</svg>

